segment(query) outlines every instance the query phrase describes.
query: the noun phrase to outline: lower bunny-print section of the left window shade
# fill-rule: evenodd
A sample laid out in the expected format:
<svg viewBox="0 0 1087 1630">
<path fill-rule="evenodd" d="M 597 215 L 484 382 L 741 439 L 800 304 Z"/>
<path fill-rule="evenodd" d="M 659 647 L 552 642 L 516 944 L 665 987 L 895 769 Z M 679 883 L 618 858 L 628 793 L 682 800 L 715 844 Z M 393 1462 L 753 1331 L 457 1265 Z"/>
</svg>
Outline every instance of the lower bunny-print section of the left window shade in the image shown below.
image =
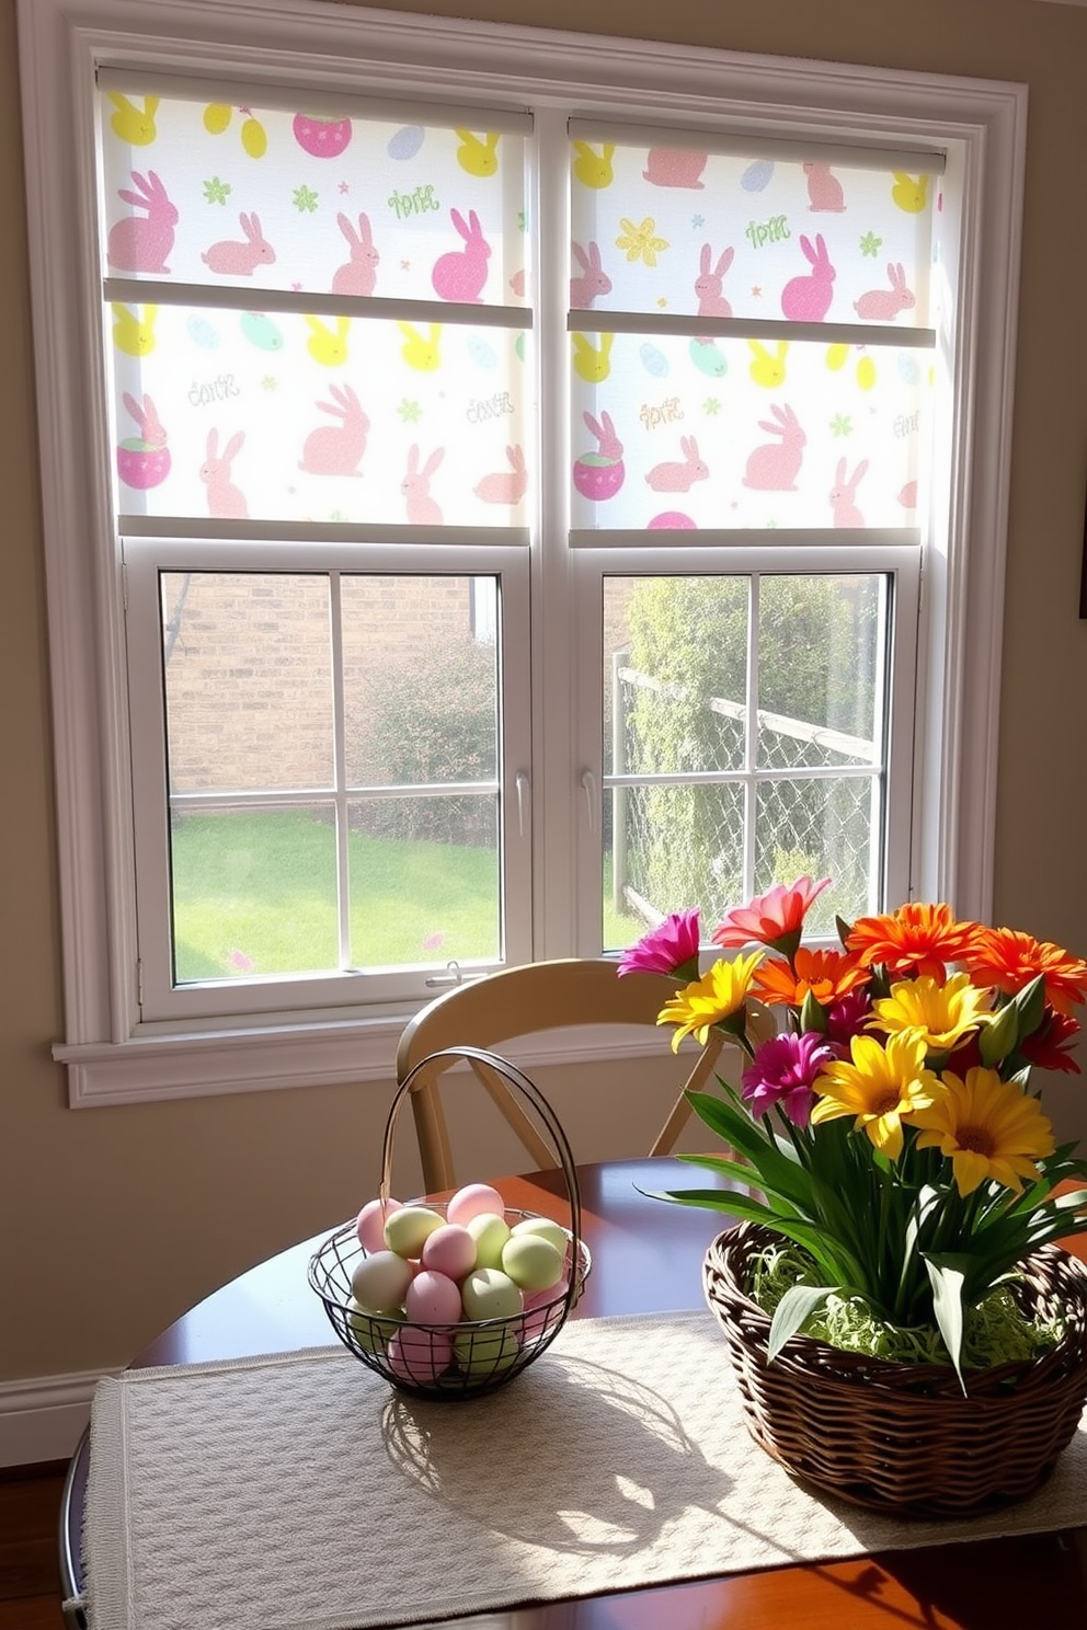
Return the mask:
<svg viewBox="0 0 1087 1630">
<path fill-rule="evenodd" d="M 153 305 L 106 319 L 124 513 L 523 522 L 512 329 Z"/>
</svg>

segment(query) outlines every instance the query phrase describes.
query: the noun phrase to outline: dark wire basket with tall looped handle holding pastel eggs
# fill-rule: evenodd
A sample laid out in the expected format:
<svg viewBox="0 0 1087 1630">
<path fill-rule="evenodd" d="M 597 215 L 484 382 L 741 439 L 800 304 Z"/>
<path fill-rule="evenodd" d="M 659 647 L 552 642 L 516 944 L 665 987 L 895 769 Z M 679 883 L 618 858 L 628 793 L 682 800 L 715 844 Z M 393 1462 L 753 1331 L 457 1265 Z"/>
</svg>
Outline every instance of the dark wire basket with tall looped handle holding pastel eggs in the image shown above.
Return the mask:
<svg viewBox="0 0 1087 1630">
<path fill-rule="evenodd" d="M 508 1060 L 476 1046 L 450 1046 L 422 1058 L 396 1090 L 385 1126 L 381 1151 L 380 1198 L 389 1198 L 393 1138 L 396 1121 L 416 1076 L 437 1058 L 466 1058 L 486 1064 L 502 1076 L 536 1112 L 559 1161 L 570 1206 L 566 1234 L 562 1278 L 554 1294 L 533 1297 L 533 1306 L 502 1319 L 461 1319 L 458 1324 L 414 1324 L 403 1314 L 370 1312 L 352 1296 L 352 1275 L 367 1255 L 359 1240 L 355 1219 L 344 1222 L 318 1245 L 310 1258 L 310 1286 L 324 1304 L 336 1335 L 368 1369 L 375 1369 L 401 1392 L 427 1399 L 469 1399 L 505 1386 L 520 1376 L 533 1359 L 551 1346 L 577 1304 L 592 1267 L 582 1239 L 582 1203 L 574 1156 L 559 1120 L 543 1092 Z M 416 1200 L 440 1216 L 445 1203 Z M 505 1208 L 510 1227 L 535 1211 Z M 396 1338 L 396 1341 L 394 1341 Z"/>
</svg>

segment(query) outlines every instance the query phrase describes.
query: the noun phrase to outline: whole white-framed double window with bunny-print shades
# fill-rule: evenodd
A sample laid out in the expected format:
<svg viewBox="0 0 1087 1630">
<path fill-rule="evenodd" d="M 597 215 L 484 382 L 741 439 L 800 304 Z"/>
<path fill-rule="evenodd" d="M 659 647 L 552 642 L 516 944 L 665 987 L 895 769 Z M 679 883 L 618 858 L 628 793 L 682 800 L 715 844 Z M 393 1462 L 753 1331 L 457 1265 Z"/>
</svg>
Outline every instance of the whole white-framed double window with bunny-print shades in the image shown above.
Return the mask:
<svg viewBox="0 0 1087 1630">
<path fill-rule="evenodd" d="M 20 21 L 73 1102 L 799 870 L 984 913 L 1017 88 Z"/>
</svg>

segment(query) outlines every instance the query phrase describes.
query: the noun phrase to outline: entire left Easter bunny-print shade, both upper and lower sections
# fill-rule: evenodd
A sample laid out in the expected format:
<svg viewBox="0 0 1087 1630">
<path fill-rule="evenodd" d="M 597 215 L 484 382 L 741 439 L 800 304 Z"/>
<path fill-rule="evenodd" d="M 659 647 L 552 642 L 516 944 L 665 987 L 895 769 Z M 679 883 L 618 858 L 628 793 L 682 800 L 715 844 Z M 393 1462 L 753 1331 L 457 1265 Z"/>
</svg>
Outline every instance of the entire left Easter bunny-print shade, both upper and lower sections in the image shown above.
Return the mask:
<svg viewBox="0 0 1087 1630">
<path fill-rule="evenodd" d="M 124 85 L 99 91 L 119 513 L 523 530 L 526 117 Z"/>
</svg>

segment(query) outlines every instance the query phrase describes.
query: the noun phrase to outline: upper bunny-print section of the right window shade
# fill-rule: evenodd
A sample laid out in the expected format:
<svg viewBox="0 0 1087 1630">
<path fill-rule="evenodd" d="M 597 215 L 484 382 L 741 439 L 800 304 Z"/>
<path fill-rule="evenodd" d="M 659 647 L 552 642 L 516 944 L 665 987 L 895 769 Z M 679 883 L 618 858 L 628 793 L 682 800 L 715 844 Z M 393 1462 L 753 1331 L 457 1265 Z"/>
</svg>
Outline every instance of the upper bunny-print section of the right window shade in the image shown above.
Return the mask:
<svg viewBox="0 0 1087 1630">
<path fill-rule="evenodd" d="M 901 171 L 575 139 L 570 308 L 931 328 L 937 187 Z"/>
</svg>

